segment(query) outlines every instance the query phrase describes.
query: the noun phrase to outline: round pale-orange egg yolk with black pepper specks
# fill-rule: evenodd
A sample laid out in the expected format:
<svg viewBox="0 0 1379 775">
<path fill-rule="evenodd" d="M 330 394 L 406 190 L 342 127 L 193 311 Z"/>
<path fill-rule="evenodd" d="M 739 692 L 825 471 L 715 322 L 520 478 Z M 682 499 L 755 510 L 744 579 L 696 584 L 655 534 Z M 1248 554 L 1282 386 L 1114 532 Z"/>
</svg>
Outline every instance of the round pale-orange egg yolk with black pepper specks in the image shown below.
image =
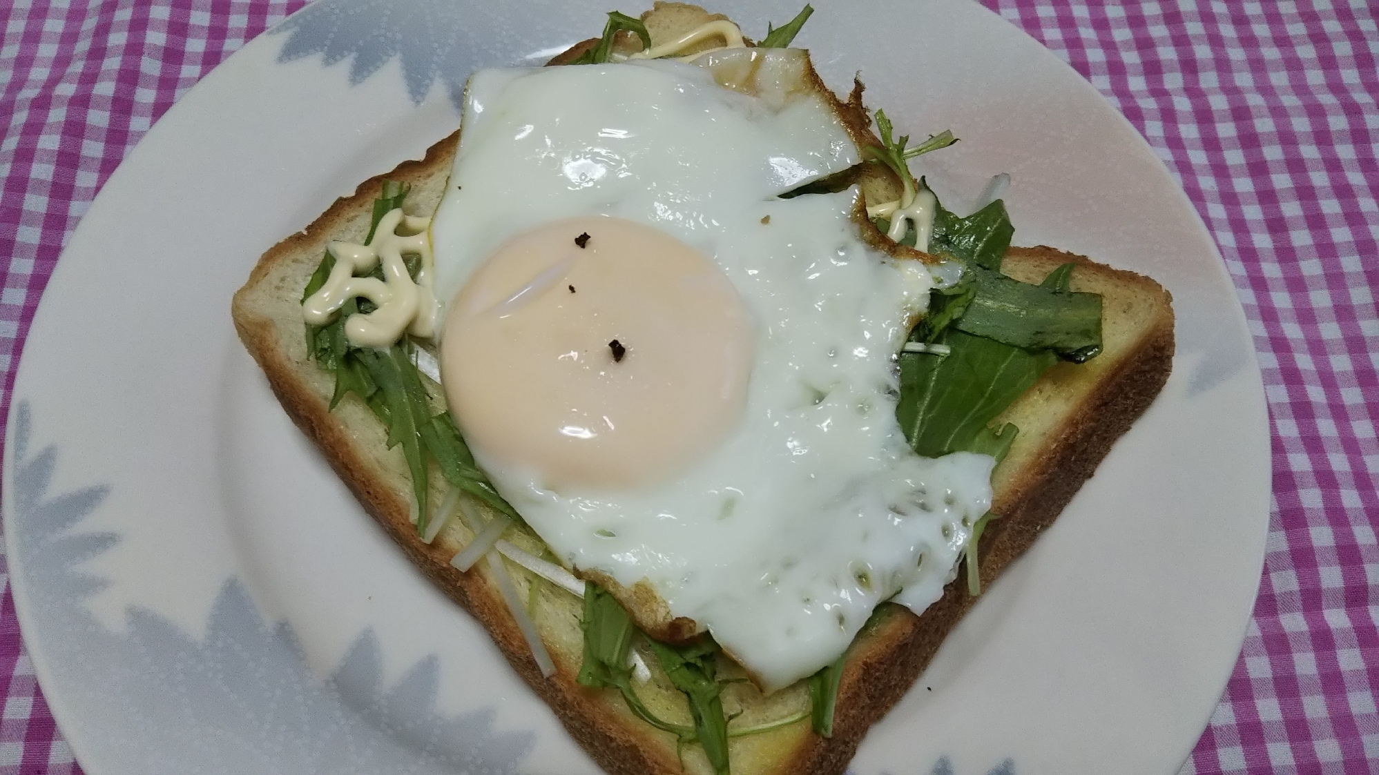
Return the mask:
<svg viewBox="0 0 1379 775">
<path fill-rule="evenodd" d="M 658 229 L 557 221 L 455 296 L 441 379 L 466 439 L 550 488 L 663 481 L 746 404 L 753 324 L 718 265 Z"/>
</svg>

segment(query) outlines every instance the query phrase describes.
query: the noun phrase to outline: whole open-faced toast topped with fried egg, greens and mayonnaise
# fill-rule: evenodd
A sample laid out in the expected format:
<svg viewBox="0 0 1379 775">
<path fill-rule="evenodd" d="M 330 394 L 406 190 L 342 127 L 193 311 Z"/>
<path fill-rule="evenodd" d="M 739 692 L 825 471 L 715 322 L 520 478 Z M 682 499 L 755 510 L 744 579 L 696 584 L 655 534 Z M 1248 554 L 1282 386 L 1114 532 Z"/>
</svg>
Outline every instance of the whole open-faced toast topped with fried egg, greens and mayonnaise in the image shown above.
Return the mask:
<svg viewBox="0 0 1379 775">
<path fill-rule="evenodd" d="M 234 323 L 611 772 L 841 772 L 1158 393 L 1168 294 L 960 217 L 855 84 L 694 6 L 476 72 Z M 993 186 L 994 188 L 994 186 Z M 303 335 L 305 331 L 305 335 Z"/>
</svg>

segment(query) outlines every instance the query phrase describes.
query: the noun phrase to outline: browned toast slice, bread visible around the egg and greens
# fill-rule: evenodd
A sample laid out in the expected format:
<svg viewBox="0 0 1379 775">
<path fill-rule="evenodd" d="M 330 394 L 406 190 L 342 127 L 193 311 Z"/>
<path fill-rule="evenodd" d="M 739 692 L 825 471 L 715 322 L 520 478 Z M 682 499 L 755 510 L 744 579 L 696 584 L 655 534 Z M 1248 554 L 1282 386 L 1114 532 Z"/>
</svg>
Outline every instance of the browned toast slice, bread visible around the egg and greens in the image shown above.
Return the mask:
<svg viewBox="0 0 1379 775">
<path fill-rule="evenodd" d="M 645 17 L 654 43 L 673 39 L 707 18 L 712 17 L 702 10 L 680 4 L 658 4 Z M 576 44 L 557 59 L 578 55 L 592 41 Z M 849 127 L 856 139 L 878 145 L 867 130 L 860 87 L 838 105 L 859 121 L 859 128 Z M 480 564 L 461 572 L 450 565 L 451 557 L 473 538 L 472 532 L 461 520 L 451 520 L 432 545 L 422 543 L 410 521 L 411 476 L 400 448 L 386 447 L 385 427 L 356 396 L 346 396 L 334 411 L 328 408 L 334 376 L 308 356 L 302 288 L 330 240 L 363 240 L 385 178 L 412 185 L 408 212 L 434 211 L 456 143 L 458 135 L 451 135 L 432 146 L 423 160 L 405 161 L 361 183 L 353 196 L 338 200 L 303 232 L 268 251 L 234 295 L 236 330 L 283 408 L 364 509 L 418 568 L 485 626 L 517 673 L 601 767 L 619 775 L 712 772 L 698 746 L 684 747 L 681 767 L 674 735 L 633 716 L 616 691 L 589 690 L 576 683 L 583 655 L 582 601 L 509 565 L 519 594 L 531 600 L 532 619 L 556 665 L 552 677 L 542 677 L 488 568 Z M 885 174 L 872 175 L 860 185 L 877 201 L 888 199 L 885 194 L 894 197 L 898 188 Z M 980 574 L 987 581 L 1052 523 L 1114 440 L 1153 401 L 1171 368 L 1172 308 L 1168 294 L 1153 280 L 1054 248 L 1012 248 L 1003 270 L 1037 281 L 1069 261 L 1078 263 L 1073 288 L 1103 296 L 1103 352 L 1083 365 L 1063 363 L 1051 368 L 1000 418 L 1015 422 L 1020 433 L 993 474 L 993 510 L 1003 519 L 990 523 L 980 541 Z M 441 477 L 433 476 L 432 483 L 432 498 L 441 498 Z M 519 528 L 506 538 L 541 553 L 539 539 Z M 921 616 L 899 605 L 883 605 L 849 652 L 833 736 L 821 738 L 801 721 L 734 738 L 729 741 L 734 771 L 738 775 L 843 772 L 866 729 L 907 691 L 974 601 L 957 582 Z M 724 677 L 734 677 L 734 669 L 725 666 Z M 742 674 L 741 669 L 736 674 Z M 659 670 L 637 692 L 652 713 L 688 723 L 684 696 Z M 728 684 L 723 702 L 729 714 L 742 713 L 735 724 L 756 725 L 807 710 L 809 695 L 804 681 L 768 696 L 743 681 Z"/>
</svg>

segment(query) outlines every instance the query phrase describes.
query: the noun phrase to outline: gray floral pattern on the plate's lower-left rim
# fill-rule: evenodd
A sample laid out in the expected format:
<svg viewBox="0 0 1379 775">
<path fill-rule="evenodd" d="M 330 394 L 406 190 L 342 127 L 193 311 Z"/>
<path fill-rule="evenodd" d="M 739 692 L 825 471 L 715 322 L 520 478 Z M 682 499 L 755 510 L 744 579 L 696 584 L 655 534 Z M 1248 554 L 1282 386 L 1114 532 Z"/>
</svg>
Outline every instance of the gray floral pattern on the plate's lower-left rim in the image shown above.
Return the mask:
<svg viewBox="0 0 1379 775">
<path fill-rule="evenodd" d="M 97 622 L 84 600 L 105 581 L 79 570 L 119 542 L 80 532 L 106 485 L 50 492 L 58 447 L 30 454 L 30 407 L 14 433 L 14 531 L 33 611 L 25 637 L 41 650 L 66 702 L 88 706 L 83 747 L 98 761 L 167 772 L 483 772 L 514 774 L 531 732 L 499 732 L 492 709 L 436 713 L 439 663 L 427 656 L 392 687 L 371 630 L 324 683 L 285 623 L 266 622 L 237 579 L 225 583 L 203 640 L 134 608 L 123 633 Z M 94 709 L 94 710 L 91 710 Z"/>
</svg>

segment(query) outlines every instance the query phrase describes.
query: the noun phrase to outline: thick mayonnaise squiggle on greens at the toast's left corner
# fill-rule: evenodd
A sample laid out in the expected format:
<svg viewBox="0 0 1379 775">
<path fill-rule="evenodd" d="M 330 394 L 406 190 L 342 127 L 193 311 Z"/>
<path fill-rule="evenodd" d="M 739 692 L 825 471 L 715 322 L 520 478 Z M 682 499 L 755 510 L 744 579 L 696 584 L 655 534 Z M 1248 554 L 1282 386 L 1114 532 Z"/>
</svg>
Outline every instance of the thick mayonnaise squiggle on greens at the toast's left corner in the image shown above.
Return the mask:
<svg viewBox="0 0 1379 775">
<path fill-rule="evenodd" d="M 399 234 L 397 228 L 408 234 Z M 432 290 L 436 273 L 427 228 L 430 218 L 405 215 L 401 208 L 383 215 L 367 245 L 332 241 L 327 245 L 335 256 L 331 276 L 319 291 L 302 302 L 303 316 L 312 325 L 325 325 L 352 298 L 364 296 L 374 302 L 368 314 L 356 313 L 345 321 L 345 335 L 360 348 L 386 348 L 407 331 L 414 336 L 434 336 L 439 306 Z M 421 270 L 412 281 L 403 254 L 422 258 Z M 356 277 L 383 262 L 383 280 Z"/>
</svg>

